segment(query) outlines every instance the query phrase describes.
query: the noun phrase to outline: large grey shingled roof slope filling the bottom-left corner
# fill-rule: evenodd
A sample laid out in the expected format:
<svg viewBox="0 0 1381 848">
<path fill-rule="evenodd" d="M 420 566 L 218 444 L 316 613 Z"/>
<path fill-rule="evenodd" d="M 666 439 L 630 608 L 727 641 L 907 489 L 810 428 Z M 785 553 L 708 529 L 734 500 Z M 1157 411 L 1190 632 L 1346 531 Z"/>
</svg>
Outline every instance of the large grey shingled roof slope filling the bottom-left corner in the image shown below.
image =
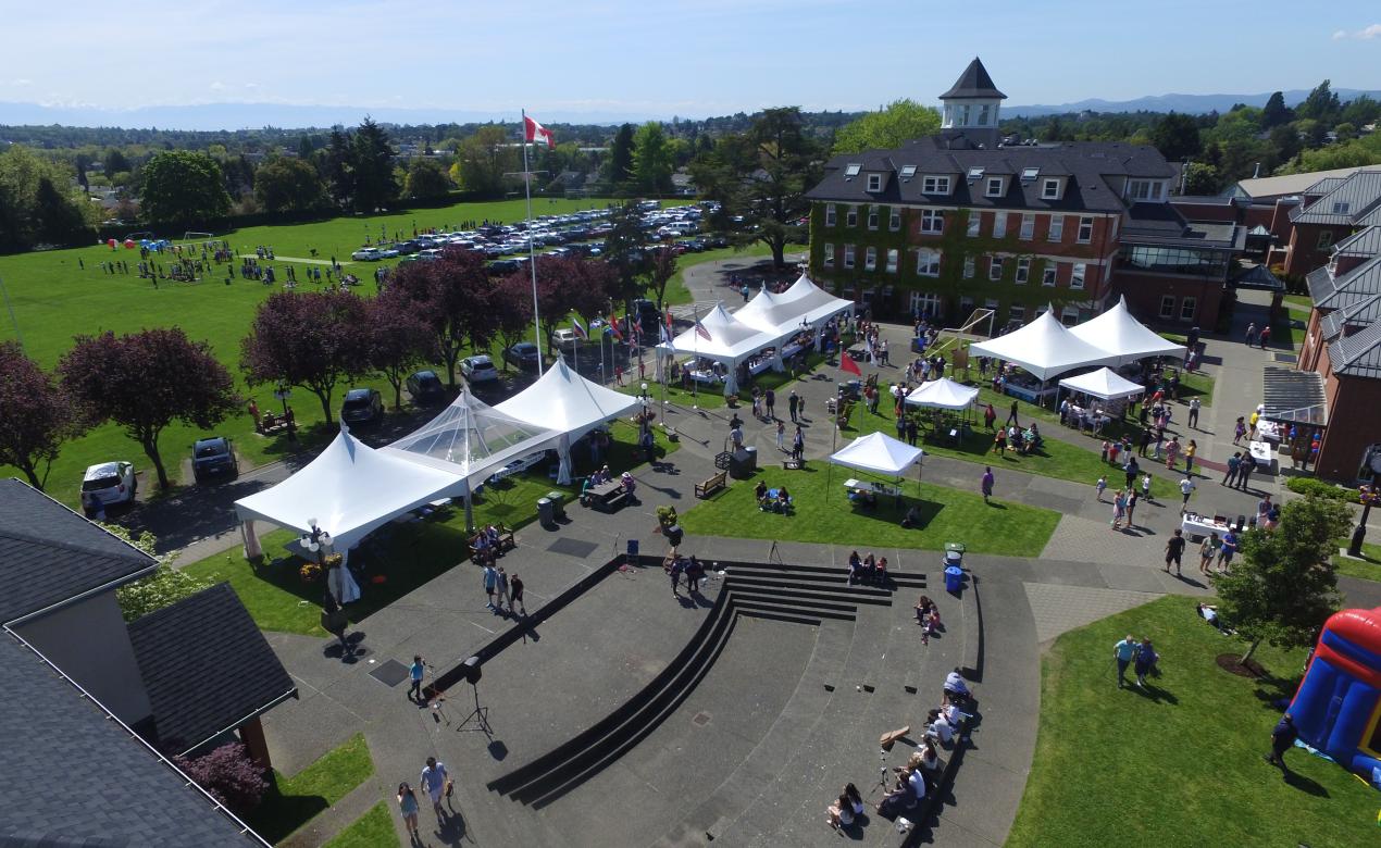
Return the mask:
<svg viewBox="0 0 1381 848">
<path fill-rule="evenodd" d="M 264 844 L 7 633 L 0 677 L 0 844 Z"/>
</svg>

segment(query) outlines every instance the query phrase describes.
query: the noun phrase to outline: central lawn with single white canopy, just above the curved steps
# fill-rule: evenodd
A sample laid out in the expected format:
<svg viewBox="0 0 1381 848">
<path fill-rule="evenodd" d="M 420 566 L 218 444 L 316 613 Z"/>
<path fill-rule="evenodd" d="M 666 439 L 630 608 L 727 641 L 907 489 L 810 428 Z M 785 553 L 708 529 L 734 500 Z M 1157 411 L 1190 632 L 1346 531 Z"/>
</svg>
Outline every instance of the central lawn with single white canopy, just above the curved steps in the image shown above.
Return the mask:
<svg viewBox="0 0 1381 848">
<path fill-rule="evenodd" d="M 688 533 L 818 541 L 840 546 L 942 550 L 946 541 L 963 541 L 979 554 L 1036 557 L 1050 540 L 1059 514 L 1052 510 L 994 500 L 931 483 L 905 483 L 900 508 L 891 499 L 878 499 L 873 510 L 852 505 L 844 496 L 844 481 L 866 476 L 842 467 L 813 461 L 805 471 L 761 470 L 749 481 L 735 481 L 717 497 L 697 503 L 681 519 Z M 793 515 L 762 512 L 753 500 L 753 486 L 784 483 L 795 501 Z M 978 475 L 974 476 L 978 489 Z M 920 529 L 902 528 L 902 517 L 917 503 Z"/>
</svg>

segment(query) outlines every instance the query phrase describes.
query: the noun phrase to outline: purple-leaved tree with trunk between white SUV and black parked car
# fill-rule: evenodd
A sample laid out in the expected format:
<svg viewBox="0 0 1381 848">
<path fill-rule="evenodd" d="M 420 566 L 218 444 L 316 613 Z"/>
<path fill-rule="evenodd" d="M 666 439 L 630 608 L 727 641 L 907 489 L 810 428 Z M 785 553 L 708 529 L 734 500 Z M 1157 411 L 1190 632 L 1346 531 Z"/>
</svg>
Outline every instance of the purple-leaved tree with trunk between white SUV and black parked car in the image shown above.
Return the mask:
<svg viewBox="0 0 1381 848">
<path fill-rule="evenodd" d="M 79 336 L 58 362 L 58 374 L 91 423 L 115 421 L 144 447 L 160 489 L 168 488 L 159 454 L 163 430 L 173 421 L 209 430 L 240 405 L 211 345 L 177 327 Z"/>
</svg>

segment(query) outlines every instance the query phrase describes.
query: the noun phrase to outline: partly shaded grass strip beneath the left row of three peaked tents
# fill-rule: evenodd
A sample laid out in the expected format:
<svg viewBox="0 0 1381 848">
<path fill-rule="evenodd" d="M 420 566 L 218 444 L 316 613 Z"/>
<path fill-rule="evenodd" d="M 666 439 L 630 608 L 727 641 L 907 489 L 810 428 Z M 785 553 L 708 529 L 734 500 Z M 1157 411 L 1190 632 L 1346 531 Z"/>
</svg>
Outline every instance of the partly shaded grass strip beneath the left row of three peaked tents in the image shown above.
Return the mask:
<svg viewBox="0 0 1381 848">
<path fill-rule="evenodd" d="M 610 470 L 623 471 L 635 467 L 635 460 L 642 461 L 637 456 L 635 439 L 637 427 L 627 421 L 615 424 L 613 443 L 603 460 Z M 679 443 L 667 442 L 664 435 L 656 434 L 656 446 L 659 456 L 666 457 Z M 573 456 L 573 464 L 577 474 L 592 471 L 588 454 L 583 452 Z M 521 528 L 537 518 L 537 500 L 552 490 L 565 492 L 568 504 L 579 492 L 574 485 L 558 486 L 544 468 L 486 485 L 474 504 L 475 525 L 493 522 Z M 203 580 L 229 581 L 261 630 L 325 637 L 326 631 L 320 627 L 325 587 L 320 581 L 304 583 L 300 572 L 302 561 L 284 550 L 296 536 L 293 530 L 283 529 L 264 533 L 260 541 L 265 558 L 257 565 L 244 559 L 243 550 L 236 547 L 181 568 Z M 470 534 L 460 503 L 424 521 L 384 525 L 351 552 L 351 568 L 358 569 L 360 599 L 345 608 L 349 620 L 365 620 L 468 558 Z M 383 581 L 376 583 L 378 577 Z"/>
</svg>

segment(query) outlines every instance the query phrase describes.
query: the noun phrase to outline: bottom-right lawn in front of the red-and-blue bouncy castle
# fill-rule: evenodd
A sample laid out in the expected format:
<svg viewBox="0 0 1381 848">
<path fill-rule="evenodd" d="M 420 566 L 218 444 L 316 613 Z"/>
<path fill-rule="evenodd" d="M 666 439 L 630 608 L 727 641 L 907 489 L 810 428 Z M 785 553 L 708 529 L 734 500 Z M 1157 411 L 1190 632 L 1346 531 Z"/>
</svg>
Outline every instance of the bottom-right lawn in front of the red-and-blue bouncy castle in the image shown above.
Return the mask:
<svg viewBox="0 0 1381 848">
<path fill-rule="evenodd" d="M 1117 691 L 1113 644 L 1128 633 L 1161 655 L 1150 695 Z M 1271 703 L 1294 693 L 1305 652 L 1262 645 L 1262 680 L 1214 659 L 1244 652 L 1179 597 L 1059 637 L 1041 663 L 1040 735 L 1008 848 L 1375 840 L 1375 791 L 1345 769 L 1297 749 L 1287 783 L 1262 762 L 1280 718 Z"/>
</svg>

